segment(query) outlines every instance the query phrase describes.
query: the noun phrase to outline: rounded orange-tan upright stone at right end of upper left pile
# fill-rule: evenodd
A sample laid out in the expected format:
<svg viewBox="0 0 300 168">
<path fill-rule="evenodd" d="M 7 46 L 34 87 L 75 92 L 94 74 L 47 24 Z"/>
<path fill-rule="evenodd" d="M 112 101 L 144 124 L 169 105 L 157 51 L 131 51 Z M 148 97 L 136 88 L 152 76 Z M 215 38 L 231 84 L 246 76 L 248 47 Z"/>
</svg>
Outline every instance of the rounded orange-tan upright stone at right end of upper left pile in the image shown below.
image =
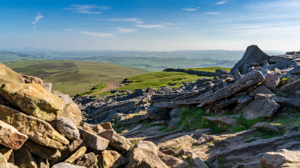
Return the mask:
<svg viewBox="0 0 300 168">
<path fill-rule="evenodd" d="M 66 105 L 62 116 L 70 119 L 75 126 L 79 126 L 82 120 L 81 110 L 74 102 L 72 102 L 69 105 Z"/>
</svg>

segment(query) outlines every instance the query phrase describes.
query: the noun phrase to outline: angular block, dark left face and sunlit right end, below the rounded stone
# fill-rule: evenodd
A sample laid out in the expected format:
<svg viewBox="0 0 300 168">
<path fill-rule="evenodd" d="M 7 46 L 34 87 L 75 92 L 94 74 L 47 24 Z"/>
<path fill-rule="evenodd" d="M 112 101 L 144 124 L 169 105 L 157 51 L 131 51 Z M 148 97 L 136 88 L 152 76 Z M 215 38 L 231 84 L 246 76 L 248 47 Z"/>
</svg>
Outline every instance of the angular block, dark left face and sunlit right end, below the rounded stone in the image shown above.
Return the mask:
<svg viewBox="0 0 300 168">
<path fill-rule="evenodd" d="M 108 147 L 109 141 L 93 134 L 84 129 L 78 128 L 80 133 L 80 139 L 88 146 L 96 150 L 105 150 Z"/>
</svg>

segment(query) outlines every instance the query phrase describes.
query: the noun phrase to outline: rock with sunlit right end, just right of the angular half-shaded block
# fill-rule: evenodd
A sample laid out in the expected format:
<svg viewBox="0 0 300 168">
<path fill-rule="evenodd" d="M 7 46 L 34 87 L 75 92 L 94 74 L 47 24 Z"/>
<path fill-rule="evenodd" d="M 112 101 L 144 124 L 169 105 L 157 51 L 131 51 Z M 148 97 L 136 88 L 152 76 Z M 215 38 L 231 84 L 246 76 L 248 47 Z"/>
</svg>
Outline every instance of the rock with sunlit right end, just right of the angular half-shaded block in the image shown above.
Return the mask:
<svg viewBox="0 0 300 168">
<path fill-rule="evenodd" d="M 118 135 L 114 130 L 105 130 L 98 134 L 109 141 L 109 146 L 119 152 L 126 152 L 130 148 L 130 142 L 124 137 Z"/>
</svg>

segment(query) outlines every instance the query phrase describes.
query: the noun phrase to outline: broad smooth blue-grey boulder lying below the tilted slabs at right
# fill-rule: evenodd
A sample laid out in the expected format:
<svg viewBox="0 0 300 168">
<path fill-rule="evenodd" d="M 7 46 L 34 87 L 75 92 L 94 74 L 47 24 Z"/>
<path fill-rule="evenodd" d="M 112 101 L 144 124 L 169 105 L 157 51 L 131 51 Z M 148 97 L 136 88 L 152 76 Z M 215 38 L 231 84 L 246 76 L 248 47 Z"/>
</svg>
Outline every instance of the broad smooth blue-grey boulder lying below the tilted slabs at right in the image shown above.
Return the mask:
<svg viewBox="0 0 300 168">
<path fill-rule="evenodd" d="M 279 107 L 280 105 L 276 104 L 274 100 L 256 99 L 247 105 L 243 116 L 247 120 L 257 117 L 272 117 Z"/>
</svg>

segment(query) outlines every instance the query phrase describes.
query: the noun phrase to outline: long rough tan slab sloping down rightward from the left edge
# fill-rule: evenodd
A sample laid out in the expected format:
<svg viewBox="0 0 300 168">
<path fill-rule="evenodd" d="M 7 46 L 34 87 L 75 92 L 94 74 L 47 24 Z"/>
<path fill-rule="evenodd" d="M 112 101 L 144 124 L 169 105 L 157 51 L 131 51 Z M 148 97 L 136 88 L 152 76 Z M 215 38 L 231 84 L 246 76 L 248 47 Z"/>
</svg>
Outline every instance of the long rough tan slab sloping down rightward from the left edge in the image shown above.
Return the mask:
<svg viewBox="0 0 300 168">
<path fill-rule="evenodd" d="M 0 120 L 14 126 L 18 131 L 26 134 L 29 139 L 43 146 L 63 149 L 64 145 L 69 144 L 69 141 L 49 123 L 4 105 L 0 105 Z"/>
</svg>

